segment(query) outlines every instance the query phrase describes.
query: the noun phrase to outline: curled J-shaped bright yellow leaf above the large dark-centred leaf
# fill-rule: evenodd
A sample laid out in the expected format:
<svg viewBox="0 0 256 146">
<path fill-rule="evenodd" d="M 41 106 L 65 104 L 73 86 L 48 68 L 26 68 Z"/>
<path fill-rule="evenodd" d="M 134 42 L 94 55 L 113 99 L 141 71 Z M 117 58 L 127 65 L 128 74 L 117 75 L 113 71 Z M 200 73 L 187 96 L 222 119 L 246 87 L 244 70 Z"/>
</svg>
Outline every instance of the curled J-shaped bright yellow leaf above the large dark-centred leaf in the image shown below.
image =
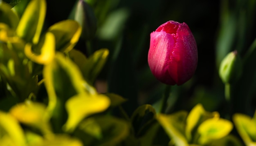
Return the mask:
<svg viewBox="0 0 256 146">
<path fill-rule="evenodd" d="M 45 41 L 40 50 L 40 54 L 32 52 L 31 44 L 27 43 L 24 51 L 30 60 L 38 64 L 49 64 L 50 62 L 52 62 L 55 55 L 55 40 L 54 35 L 52 33 L 46 33 Z"/>
</svg>

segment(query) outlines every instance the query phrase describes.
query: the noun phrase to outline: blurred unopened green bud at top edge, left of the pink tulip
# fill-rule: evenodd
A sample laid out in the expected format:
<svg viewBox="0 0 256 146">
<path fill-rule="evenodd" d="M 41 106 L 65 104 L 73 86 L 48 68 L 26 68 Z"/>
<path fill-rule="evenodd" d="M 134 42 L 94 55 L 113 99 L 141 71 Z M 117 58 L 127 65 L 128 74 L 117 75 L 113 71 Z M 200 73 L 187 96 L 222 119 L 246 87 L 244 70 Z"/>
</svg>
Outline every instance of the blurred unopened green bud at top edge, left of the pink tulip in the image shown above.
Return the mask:
<svg viewBox="0 0 256 146">
<path fill-rule="evenodd" d="M 94 37 L 97 29 L 97 19 L 92 7 L 85 0 L 77 1 L 69 18 L 76 20 L 81 25 L 81 38 L 90 40 Z"/>
</svg>

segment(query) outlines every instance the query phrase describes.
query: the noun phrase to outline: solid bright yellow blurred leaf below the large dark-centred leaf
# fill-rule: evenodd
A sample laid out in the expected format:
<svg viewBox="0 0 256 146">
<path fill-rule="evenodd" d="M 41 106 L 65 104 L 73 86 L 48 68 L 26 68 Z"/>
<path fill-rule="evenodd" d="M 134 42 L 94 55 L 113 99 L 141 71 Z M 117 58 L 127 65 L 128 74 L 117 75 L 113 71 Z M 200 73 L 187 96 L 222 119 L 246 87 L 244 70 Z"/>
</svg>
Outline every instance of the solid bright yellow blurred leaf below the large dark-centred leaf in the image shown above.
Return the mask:
<svg viewBox="0 0 256 146">
<path fill-rule="evenodd" d="M 73 131 L 81 120 L 94 113 L 105 111 L 110 105 L 106 95 L 79 94 L 66 102 L 68 119 L 64 126 L 65 131 Z"/>
</svg>

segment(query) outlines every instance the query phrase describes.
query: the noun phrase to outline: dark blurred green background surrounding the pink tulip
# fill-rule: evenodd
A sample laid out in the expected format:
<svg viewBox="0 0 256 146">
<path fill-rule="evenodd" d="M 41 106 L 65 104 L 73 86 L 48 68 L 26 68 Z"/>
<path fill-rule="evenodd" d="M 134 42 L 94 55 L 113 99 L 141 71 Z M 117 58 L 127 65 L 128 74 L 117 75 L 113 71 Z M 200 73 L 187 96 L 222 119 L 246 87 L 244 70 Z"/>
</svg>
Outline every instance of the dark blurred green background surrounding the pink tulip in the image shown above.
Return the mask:
<svg viewBox="0 0 256 146">
<path fill-rule="evenodd" d="M 234 87 L 234 113 L 252 115 L 256 96 L 255 0 L 86 0 L 97 18 L 94 38 L 76 45 L 87 56 L 108 48 L 110 56 L 95 86 L 117 93 L 128 102 L 128 115 L 141 104 L 158 109 L 166 85 L 157 81 L 147 64 L 150 33 L 168 20 L 186 22 L 198 45 L 198 68 L 189 82 L 173 86 L 167 113 L 189 111 L 202 103 L 207 111 L 225 113 L 224 84 L 218 76 L 221 60 L 237 50 L 249 56 Z M 75 0 L 47 0 L 45 28 L 65 20 Z M 89 45 L 88 45 L 89 44 Z M 249 55 L 248 55 L 249 54 Z M 254 55 L 250 55 L 254 54 Z M 254 56 L 254 57 L 253 57 Z"/>
</svg>

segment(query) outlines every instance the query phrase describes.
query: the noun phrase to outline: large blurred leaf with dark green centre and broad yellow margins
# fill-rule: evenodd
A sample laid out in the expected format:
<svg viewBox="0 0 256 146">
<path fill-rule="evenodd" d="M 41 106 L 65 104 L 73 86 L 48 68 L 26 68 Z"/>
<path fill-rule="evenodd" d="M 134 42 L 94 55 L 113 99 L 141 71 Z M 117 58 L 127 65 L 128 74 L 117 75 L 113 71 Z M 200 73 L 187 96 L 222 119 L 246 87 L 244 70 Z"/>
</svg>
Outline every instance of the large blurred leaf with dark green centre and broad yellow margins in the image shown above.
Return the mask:
<svg viewBox="0 0 256 146">
<path fill-rule="evenodd" d="M 62 53 L 56 53 L 54 60 L 44 66 L 43 77 L 49 97 L 48 110 L 53 112 L 57 97 L 65 101 L 77 94 L 96 94 L 96 89 L 87 84 L 79 68 L 65 58 Z"/>
</svg>

